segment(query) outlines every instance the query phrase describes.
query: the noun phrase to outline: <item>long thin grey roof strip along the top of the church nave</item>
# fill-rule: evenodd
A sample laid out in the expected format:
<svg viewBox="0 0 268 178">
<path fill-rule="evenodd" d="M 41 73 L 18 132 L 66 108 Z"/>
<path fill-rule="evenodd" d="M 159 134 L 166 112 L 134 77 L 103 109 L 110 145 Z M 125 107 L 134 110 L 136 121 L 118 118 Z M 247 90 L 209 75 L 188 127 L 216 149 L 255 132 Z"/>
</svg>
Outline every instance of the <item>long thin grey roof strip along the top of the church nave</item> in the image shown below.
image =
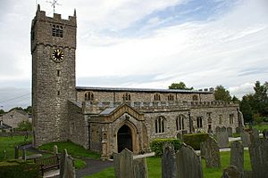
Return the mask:
<svg viewBox="0 0 268 178">
<path fill-rule="evenodd" d="M 213 93 L 210 91 L 197 90 L 174 90 L 174 89 L 155 89 L 155 88 L 115 88 L 115 87 L 92 87 L 76 86 L 77 91 L 97 91 L 97 92 L 143 92 L 143 93 Z"/>
</svg>

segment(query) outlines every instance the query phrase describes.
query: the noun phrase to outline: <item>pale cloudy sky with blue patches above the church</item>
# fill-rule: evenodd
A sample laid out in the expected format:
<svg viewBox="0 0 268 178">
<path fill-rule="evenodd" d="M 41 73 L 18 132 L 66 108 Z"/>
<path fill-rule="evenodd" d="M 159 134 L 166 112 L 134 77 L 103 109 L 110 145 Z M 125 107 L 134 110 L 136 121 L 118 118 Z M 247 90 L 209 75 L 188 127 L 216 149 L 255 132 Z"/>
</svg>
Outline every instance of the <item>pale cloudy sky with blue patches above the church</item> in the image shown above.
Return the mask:
<svg viewBox="0 0 268 178">
<path fill-rule="evenodd" d="M 30 26 L 46 0 L 0 0 L 0 109 L 31 96 Z M 77 12 L 76 85 L 195 89 L 241 98 L 268 81 L 267 0 L 58 0 Z"/>
</svg>

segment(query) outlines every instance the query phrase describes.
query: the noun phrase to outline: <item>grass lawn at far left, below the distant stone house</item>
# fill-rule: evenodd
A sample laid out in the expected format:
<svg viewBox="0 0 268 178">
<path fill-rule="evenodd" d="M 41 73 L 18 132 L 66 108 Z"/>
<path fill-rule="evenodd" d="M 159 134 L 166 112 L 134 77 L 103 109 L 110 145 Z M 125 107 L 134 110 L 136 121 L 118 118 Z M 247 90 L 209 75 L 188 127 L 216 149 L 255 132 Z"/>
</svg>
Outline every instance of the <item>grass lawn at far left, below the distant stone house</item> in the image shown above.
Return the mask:
<svg viewBox="0 0 268 178">
<path fill-rule="evenodd" d="M 6 150 L 7 159 L 14 158 L 14 147 L 16 145 L 23 145 L 31 142 L 32 137 L 29 136 L 24 142 L 24 136 L 0 137 L 0 161 L 4 160 L 4 150 Z M 21 151 L 19 151 L 21 156 Z M 32 154 L 27 152 L 27 155 Z"/>
</svg>

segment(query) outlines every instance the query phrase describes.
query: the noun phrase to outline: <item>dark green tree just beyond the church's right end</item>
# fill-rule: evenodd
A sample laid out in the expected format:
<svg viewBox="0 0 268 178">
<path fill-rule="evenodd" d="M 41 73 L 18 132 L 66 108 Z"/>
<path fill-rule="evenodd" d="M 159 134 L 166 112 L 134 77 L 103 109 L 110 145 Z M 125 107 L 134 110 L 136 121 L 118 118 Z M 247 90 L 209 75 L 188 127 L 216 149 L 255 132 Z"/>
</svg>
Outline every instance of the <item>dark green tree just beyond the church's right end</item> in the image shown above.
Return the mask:
<svg viewBox="0 0 268 178">
<path fill-rule="evenodd" d="M 243 96 L 242 101 L 239 103 L 240 111 L 243 113 L 244 120 L 247 123 L 253 121 L 253 111 L 250 106 L 251 100 L 253 100 L 252 94 L 247 94 Z"/>
</svg>

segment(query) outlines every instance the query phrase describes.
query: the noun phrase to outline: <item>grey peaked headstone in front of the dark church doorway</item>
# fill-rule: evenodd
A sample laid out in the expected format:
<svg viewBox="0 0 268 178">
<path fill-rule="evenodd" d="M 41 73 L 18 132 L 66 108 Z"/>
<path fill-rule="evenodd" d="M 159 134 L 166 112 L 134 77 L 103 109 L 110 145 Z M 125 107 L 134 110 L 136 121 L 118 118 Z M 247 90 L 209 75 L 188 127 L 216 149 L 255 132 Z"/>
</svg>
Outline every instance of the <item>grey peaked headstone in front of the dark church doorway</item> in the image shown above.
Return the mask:
<svg viewBox="0 0 268 178">
<path fill-rule="evenodd" d="M 116 178 L 134 178 L 133 153 L 124 149 L 113 157 L 114 174 Z"/>
</svg>

